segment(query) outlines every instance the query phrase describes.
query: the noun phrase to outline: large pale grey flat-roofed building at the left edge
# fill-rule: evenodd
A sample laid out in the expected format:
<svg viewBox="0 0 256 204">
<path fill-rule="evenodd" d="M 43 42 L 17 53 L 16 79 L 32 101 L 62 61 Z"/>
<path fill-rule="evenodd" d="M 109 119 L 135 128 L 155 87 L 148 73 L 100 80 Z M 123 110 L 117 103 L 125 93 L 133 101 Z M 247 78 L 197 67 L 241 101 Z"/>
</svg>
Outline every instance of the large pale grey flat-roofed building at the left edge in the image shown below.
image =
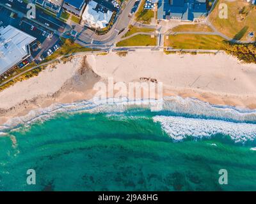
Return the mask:
<svg viewBox="0 0 256 204">
<path fill-rule="evenodd" d="M 35 40 L 11 25 L 0 27 L 0 75 L 29 57 L 29 45 Z"/>
</svg>

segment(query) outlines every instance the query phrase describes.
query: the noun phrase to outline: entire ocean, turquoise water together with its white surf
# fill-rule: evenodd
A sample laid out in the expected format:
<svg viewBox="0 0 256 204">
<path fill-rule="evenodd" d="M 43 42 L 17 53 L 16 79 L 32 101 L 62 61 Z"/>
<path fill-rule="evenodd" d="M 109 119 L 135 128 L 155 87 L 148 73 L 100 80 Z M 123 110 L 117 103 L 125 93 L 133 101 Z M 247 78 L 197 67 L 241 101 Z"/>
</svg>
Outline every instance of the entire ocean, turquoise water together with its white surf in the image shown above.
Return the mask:
<svg viewBox="0 0 256 204">
<path fill-rule="evenodd" d="M 150 112 L 123 102 L 52 105 L 2 126 L 0 190 L 256 190 L 255 110 L 169 98 Z"/>
</svg>

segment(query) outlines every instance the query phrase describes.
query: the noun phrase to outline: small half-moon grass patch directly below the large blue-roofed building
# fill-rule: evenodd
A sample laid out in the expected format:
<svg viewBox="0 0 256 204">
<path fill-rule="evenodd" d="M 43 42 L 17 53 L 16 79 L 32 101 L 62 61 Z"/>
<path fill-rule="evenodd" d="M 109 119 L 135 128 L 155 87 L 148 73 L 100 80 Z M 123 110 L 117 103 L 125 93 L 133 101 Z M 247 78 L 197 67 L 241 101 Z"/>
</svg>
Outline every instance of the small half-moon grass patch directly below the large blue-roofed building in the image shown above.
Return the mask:
<svg viewBox="0 0 256 204">
<path fill-rule="evenodd" d="M 211 27 L 204 25 L 204 24 L 184 24 L 178 25 L 173 27 L 173 32 L 184 32 L 184 31 L 191 31 L 191 32 L 212 32 Z"/>
</svg>

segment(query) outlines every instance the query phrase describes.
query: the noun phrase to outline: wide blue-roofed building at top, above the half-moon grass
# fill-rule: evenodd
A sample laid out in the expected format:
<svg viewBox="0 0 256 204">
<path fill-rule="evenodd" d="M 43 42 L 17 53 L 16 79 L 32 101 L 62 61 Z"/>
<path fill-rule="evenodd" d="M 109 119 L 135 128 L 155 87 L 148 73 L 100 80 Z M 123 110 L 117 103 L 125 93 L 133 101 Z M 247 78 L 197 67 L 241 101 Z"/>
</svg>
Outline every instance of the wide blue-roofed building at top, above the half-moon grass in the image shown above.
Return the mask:
<svg viewBox="0 0 256 204">
<path fill-rule="evenodd" d="M 159 0 L 158 20 L 193 21 L 207 15 L 206 0 Z"/>
</svg>

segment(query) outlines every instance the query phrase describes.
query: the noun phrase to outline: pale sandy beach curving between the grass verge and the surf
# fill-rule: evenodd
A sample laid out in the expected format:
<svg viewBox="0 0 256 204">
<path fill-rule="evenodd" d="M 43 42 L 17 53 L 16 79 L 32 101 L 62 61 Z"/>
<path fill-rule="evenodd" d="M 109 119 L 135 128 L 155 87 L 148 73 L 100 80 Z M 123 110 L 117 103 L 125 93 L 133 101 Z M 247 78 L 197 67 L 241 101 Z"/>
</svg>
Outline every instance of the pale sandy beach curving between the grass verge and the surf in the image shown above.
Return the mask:
<svg viewBox="0 0 256 204">
<path fill-rule="evenodd" d="M 163 82 L 164 96 L 198 98 L 218 105 L 256 108 L 256 64 L 243 64 L 227 54 L 133 52 L 88 55 L 49 66 L 38 77 L 0 92 L 0 124 L 34 108 L 93 98 L 93 85 L 115 82 Z"/>
</svg>

